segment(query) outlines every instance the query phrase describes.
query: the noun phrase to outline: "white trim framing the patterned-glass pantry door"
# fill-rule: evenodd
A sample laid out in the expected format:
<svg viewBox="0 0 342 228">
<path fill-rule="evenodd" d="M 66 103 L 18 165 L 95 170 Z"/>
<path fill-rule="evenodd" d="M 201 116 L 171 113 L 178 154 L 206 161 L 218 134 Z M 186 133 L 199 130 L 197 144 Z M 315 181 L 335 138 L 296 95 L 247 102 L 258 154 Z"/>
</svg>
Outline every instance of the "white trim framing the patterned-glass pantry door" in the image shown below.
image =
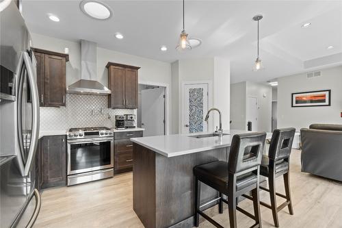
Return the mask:
<svg viewBox="0 0 342 228">
<path fill-rule="evenodd" d="M 183 120 L 183 112 L 184 112 L 184 97 L 185 97 L 185 94 L 184 94 L 184 88 L 185 88 L 185 85 L 189 85 L 189 84 L 207 84 L 208 85 L 208 110 L 209 110 L 209 107 L 212 106 L 212 97 L 213 97 L 213 94 L 212 94 L 212 91 L 211 91 L 211 84 L 212 84 L 212 81 L 209 81 L 209 80 L 205 80 L 205 81 L 182 81 L 181 82 L 181 97 L 180 97 L 180 102 L 179 102 L 179 133 L 182 132 L 182 128 L 183 128 L 183 125 L 185 123 L 184 120 Z M 205 113 L 206 115 L 206 113 Z M 210 131 L 211 129 L 211 126 L 213 126 L 213 118 L 211 118 L 211 120 L 208 121 L 208 130 Z"/>
</svg>

